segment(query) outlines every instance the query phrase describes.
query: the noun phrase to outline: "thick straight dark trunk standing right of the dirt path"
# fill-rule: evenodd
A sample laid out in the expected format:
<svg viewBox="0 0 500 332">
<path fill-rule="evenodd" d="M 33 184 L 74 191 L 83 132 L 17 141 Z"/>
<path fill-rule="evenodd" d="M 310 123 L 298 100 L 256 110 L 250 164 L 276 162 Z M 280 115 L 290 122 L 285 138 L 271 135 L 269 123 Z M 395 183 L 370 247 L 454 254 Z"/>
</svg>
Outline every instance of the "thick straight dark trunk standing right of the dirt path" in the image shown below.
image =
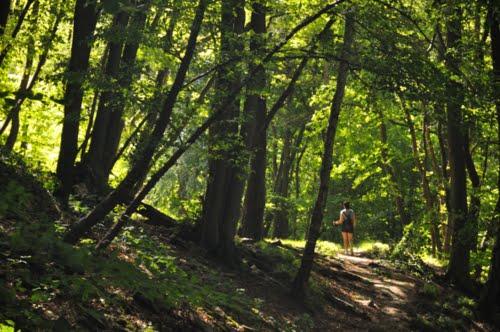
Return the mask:
<svg viewBox="0 0 500 332">
<path fill-rule="evenodd" d="M 460 39 L 462 12 L 457 1 L 448 1 L 447 44 L 445 65 L 452 73 L 460 67 Z M 447 276 L 464 290 L 471 290 L 469 278 L 470 232 L 467 227 L 467 185 L 464 153 L 464 122 L 462 115 L 463 87 L 454 78 L 447 86 L 446 118 L 448 131 L 448 155 L 450 159 L 450 210 L 449 223 L 453 225 L 453 237 Z"/>
</svg>

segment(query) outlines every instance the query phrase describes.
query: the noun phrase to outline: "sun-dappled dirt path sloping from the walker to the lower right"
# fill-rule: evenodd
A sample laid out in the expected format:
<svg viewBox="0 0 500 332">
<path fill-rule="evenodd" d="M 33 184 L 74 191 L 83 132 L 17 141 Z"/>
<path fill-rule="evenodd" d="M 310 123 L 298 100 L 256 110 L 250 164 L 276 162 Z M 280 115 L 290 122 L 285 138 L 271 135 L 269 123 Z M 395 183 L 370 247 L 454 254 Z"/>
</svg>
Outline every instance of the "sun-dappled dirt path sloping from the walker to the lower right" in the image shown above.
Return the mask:
<svg viewBox="0 0 500 332">
<path fill-rule="evenodd" d="M 362 253 L 338 255 L 326 261 L 331 261 L 326 265 L 339 278 L 320 273 L 332 305 L 317 317 L 318 331 L 490 330 L 471 319 L 467 303 L 461 304 L 455 291 L 403 274 L 387 262 Z"/>
</svg>

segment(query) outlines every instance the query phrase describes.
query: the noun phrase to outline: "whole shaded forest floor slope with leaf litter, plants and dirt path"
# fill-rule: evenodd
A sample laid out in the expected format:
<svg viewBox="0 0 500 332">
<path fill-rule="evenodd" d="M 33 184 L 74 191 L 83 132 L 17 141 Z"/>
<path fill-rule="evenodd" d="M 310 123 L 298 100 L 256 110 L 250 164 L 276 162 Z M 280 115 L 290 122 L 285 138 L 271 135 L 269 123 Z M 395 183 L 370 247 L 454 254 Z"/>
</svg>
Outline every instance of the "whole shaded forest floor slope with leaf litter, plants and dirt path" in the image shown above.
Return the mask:
<svg viewBox="0 0 500 332">
<path fill-rule="evenodd" d="M 37 180 L 0 166 L 0 331 L 494 330 L 439 271 L 412 274 L 377 246 L 347 256 L 320 242 L 305 301 L 289 291 L 300 241 L 239 239 L 237 268 L 140 221 L 103 253 L 93 246 L 111 220 L 69 246 Z"/>
</svg>

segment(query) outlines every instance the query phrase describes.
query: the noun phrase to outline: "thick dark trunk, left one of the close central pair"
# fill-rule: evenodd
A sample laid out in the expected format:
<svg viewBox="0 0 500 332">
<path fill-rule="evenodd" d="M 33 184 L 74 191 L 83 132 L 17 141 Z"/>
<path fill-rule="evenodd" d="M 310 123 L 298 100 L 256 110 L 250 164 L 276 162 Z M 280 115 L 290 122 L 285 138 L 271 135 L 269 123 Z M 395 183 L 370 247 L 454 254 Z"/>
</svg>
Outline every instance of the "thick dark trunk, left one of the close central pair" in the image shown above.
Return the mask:
<svg viewBox="0 0 500 332">
<path fill-rule="evenodd" d="M 221 46 L 222 62 L 237 59 L 243 49 L 241 34 L 245 24 L 244 1 L 229 0 L 222 3 Z M 233 86 L 241 84 L 239 62 L 232 68 L 219 70 L 215 89 L 214 108 L 218 109 L 230 97 Z M 203 205 L 201 243 L 210 252 L 224 258 L 229 264 L 236 262 L 234 236 L 239 219 L 243 195 L 243 170 L 241 136 L 238 118 L 240 98 L 234 98 L 231 106 L 209 130 L 209 171 L 207 191 Z"/>
</svg>

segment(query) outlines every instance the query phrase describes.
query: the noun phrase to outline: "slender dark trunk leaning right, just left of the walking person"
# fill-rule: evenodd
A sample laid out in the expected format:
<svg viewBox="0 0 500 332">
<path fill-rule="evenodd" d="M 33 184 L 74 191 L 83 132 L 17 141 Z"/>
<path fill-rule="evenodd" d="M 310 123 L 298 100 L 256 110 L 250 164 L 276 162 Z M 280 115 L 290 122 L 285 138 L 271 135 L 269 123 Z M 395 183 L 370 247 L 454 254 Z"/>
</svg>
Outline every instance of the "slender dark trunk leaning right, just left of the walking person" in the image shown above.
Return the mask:
<svg viewBox="0 0 500 332">
<path fill-rule="evenodd" d="M 305 295 L 307 282 L 309 280 L 309 275 L 311 274 L 311 269 L 313 266 L 316 241 L 320 235 L 321 224 L 323 222 L 324 209 L 326 205 L 326 199 L 328 196 L 328 186 L 330 183 L 330 172 L 332 169 L 333 143 L 335 141 L 335 133 L 337 130 L 338 118 L 342 106 L 342 101 L 344 99 L 345 86 L 347 83 L 347 74 L 349 71 L 349 63 L 346 59 L 349 59 L 353 38 L 354 38 L 354 15 L 352 12 L 348 12 L 346 14 L 346 19 L 345 19 L 344 44 L 342 46 L 342 54 L 341 54 L 342 60 L 339 63 L 337 86 L 332 100 L 330 117 L 328 119 L 328 128 L 325 135 L 323 159 L 321 161 L 320 186 L 318 190 L 318 196 L 316 198 L 316 203 L 314 205 L 314 209 L 312 212 L 307 243 L 304 248 L 304 253 L 302 256 L 300 268 L 299 271 L 297 272 L 297 276 L 295 277 L 295 280 L 293 281 L 292 285 L 292 293 L 295 296 L 298 296 L 299 298 L 303 298 Z"/>
</svg>

